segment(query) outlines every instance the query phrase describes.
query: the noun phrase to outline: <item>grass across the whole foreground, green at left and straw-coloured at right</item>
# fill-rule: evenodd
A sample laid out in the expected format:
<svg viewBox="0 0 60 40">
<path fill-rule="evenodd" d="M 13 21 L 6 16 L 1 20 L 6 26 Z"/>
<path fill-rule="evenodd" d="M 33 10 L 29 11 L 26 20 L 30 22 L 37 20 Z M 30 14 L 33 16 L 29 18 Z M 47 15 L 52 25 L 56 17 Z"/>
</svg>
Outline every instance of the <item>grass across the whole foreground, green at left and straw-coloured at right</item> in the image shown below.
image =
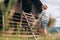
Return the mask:
<svg viewBox="0 0 60 40">
<path fill-rule="evenodd" d="M 39 37 L 40 40 L 60 40 L 60 33 L 58 34 L 48 34 L 47 37 Z M 33 37 L 18 37 L 18 36 L 10 36 L 4 37 L 0 36 L 0 40 L 35 40 Z"/>
</svg>

